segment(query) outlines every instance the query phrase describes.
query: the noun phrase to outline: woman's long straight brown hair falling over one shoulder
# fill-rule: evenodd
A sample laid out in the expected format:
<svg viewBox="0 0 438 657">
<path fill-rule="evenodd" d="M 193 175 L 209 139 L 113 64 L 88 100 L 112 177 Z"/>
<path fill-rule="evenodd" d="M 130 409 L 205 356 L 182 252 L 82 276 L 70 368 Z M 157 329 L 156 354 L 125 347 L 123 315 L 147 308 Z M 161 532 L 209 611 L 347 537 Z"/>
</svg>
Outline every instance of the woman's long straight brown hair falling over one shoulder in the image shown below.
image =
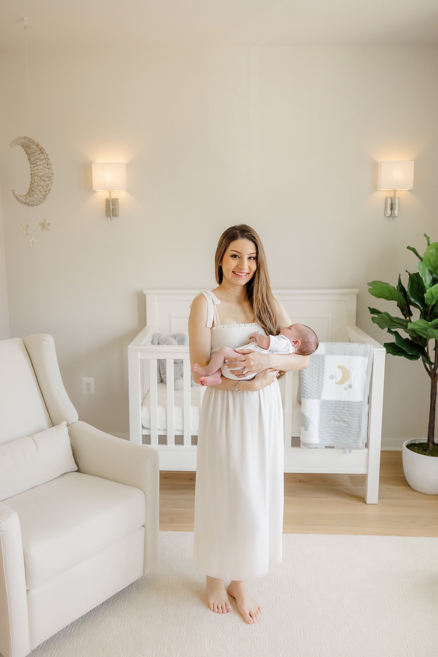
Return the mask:
<svg viewBox="0 0 438 657">
<path fill-rule="evenodd" d="M 217 242 L 215 254 L 215 278 L 217 284 L 222 283 L 223 273 L 221 261 L 227 248 L 234 240 L 250 240 L 255 245 L 257 255 L 255 261 L 257 267 L 254 275 L 246 284 L 246 293 L 252 305 L 254 321 L 265 329 L 268 335 L 278 335 L 280 333 L 280 320 L 276 302 L 271 290 L 271 281 L 269 280 L 268 264 L 266 260 L 265 248 L 261 239 L 255 230 L 246 223 L 239 223 L 236 226 L 230 226 L 224 231 Z M 286 372 L 280 370 L 278 378 L 283 378 Z"/>
</svg>

